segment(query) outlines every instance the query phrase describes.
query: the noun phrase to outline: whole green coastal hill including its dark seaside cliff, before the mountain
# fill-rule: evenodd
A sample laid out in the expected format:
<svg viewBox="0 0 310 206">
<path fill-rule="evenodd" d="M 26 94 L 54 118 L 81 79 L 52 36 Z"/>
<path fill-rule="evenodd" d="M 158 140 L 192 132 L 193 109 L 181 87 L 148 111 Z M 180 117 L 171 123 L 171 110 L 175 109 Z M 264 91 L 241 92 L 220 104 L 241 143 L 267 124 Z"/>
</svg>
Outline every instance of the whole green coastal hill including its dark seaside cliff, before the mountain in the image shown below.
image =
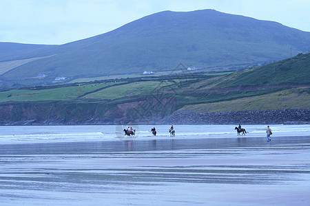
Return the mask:
<svg viewBox="0 0 310 206">
<path fill-rule="evenodd" d="M 31 120 L 34 124 L 158 123 L 158 119 L 167 119 L 176 112 L 170 120 L 182 120 L 182 124 L 195 122 L 198 116 L 208 119 L 208 124 L 216 120 L 214 117 L 220 118 L 216 124 L 227 124 L 225 119 L 228 117 L 230 122 L 234 122 L 237 117 L 240 121 L 245 116 L 251 117 L 249 121 L 253 124 L 258 122 L 256 117 L 259 117 L 262 118 L 259 119 L 261 124 L 270 119 L 270 110 L 273 110 L 273 123 L 309 122 L 309 60 L 310 54 L 299 54 L 270 65 L 230 74 L 218 73 L 218 76 L 185 71 L 172 73 L 170 76 L 145 76 L 1 91 L 0 122 Z M 262 78 L 271 71 L 271 78 Z M 278 76 L 281 78 L 278 79 Z M 289 112 L 283 111 L 287 109 Z M 240 111 L 256 113 L 247 112 L 242 115 Z M 210 115 L 216 112 L 222 113 Z M 278 117 L 280 122 L 277 122 Z"/>
</svg>

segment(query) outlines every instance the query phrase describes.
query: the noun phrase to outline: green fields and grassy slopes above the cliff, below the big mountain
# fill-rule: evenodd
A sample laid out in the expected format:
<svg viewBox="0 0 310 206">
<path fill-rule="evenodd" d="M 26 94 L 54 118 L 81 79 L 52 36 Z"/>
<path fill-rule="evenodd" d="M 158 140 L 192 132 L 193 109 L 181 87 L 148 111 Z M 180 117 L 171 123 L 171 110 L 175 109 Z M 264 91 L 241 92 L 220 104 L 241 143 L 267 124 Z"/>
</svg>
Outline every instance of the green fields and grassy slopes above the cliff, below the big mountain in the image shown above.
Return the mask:
<svg viewBox="0 0 310 206">
<path fill-rule="evenodd" d="M 105 108 L 132 105 L 164 106 L 169 111 L 310 109 L 310 54 L 234 73 L 190 73 L 179 69 L 169 76 L 144 76 L 29 87 L 0 92 L 1 104 L 71 102 L 102 104 Z"/>
</svg>

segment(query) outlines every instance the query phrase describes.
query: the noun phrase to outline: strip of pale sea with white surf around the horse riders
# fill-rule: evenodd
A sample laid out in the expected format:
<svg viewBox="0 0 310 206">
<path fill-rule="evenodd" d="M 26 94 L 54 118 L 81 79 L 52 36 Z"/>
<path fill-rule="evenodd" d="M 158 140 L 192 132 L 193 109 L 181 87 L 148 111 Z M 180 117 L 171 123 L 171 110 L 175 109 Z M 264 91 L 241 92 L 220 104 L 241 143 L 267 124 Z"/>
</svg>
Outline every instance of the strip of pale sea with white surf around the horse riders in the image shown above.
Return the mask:
<svg viewBox="0 0 310 206">
<path fill-rule="evenodd" d="M 127 136 L 123 129 L 134 128 L 136 134 Z M 174 125 L 174 139 L 236 138 L 238 125 Z M 156 136 L 152 128 L 156 128 Z M 0 144 L 52 143 L 74 141 L 147 141 L 149 139 L 172 139 L 170 125 L 103 125 L 103 126 L 0 126 Z M 243 137 L 265 137 L 265 125 L 242 126 L 247 131 Z M 310 135 L 309 124 L 271 125 L 273 137 Z M 240 136 L 242 137 L 242 136 Z"/>
</svg>

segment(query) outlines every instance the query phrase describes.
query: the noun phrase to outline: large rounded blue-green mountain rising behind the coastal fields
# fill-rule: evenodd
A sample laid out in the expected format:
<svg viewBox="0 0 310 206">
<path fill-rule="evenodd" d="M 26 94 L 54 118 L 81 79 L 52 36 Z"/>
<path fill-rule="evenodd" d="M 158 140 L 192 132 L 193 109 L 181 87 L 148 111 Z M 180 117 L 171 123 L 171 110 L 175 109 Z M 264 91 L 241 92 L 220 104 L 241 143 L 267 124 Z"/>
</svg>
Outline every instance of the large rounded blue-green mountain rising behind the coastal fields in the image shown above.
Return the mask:
<svg viewBox="0 0 310 206">
<path fill-rule="evenodd" d="M 0 80 L 21 82 L 39 73 L 52 82 L 56 76 L 74 79 L 169 71 L 180 62 L 186 67 L 245 67 L 289 58 L 291 52 L 308 52 L 309 44 L 310 32 L 272 21 L 216 10 L 165 11 L 81 41 L 17 52 L 14 60 L 30 61 L 4 70 Z M 9 62 L 1 56 L 0 60 Z"/>
</svg>

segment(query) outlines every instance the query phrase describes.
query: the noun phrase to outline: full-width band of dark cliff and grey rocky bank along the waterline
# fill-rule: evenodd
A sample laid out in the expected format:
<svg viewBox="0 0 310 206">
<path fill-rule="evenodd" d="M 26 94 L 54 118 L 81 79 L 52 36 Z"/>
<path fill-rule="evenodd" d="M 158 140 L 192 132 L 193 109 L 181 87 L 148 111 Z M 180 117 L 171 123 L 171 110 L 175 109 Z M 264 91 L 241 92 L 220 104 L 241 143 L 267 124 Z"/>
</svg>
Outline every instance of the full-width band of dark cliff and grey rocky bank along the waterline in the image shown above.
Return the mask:
<svg viewBox="0 0 310 206">
<path fill-rule="evenodd" d="M 175 112 L 176 102 L 123 104 L 19 102 L 0 105 L 2 125 L 58 124 L 310 124 L 309 109 L 237 111 L 220 113 Z"/>
</svg>

